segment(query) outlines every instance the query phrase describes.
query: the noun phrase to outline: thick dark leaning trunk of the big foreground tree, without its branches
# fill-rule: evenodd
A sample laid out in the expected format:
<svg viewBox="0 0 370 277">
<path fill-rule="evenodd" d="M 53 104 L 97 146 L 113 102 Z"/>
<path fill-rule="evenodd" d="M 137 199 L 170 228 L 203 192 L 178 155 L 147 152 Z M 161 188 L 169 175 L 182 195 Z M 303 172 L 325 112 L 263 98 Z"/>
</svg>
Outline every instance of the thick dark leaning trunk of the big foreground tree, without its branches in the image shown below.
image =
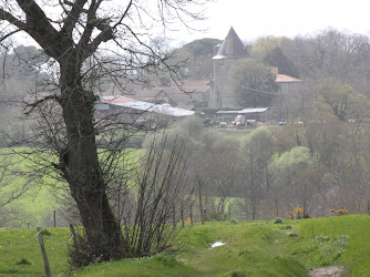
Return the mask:
<svg viewBox="0 0 370 277">
<path fill-rule="evenodd" d="M 84 91 L 75 60 L 61 63 L 61 104 L 68 145 L 60 156 L 64 175 L 85 228 L 92 255 L 105 259 L 126 256 L 121 227 L 110 207 L 100 168 L 94 130 L 93 92 Z"/>
</svg>

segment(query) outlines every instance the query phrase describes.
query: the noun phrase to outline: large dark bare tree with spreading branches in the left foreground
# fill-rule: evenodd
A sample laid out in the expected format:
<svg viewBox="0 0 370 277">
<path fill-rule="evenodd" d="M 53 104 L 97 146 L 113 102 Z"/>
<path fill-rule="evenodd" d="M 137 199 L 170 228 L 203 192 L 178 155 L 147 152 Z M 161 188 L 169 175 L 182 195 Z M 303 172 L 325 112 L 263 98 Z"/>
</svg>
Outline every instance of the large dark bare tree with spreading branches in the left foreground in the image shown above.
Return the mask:
<svg viewBox="0 0 370 277">
<path fill-rule="evenodd" d="M 62 133 L 64 140 L 51 142 L 51 145 L 59 143 L 53 148 L 58 162 L 52 162 L 52 158 L 47 162 L 69 184 L 92 254 L 103 254 L 105 259 L 127 256 L 129 242 L 122 235 L 110 206 L 106 195 L 109 175 L 103 171 L 97 151 L 94 122 L 94 104 L 99 99 L 94 90 L 100 80 L 97 76 L 105 74 L 112 81 L 136 81 L 138 70 L 150 70 L 164 63 L 166 54 L 150 47 L 148 30 L 153 30 L 154 23 L 165 28 L 178 18 L 184 23 L 199 19 L 199 14 L 189 9 L 189 4 L 194 3 L 201 4 L 202 1 L 0 2 L 1 41 L 22 31 L 49 57 L 47 65 L 52 73 L 51 79 L 56 80 L 55 90 L 29 104 L 28 113 L 48 102 L 60 110 L 62 125 L 49 127 L 50 132 L 55 132 L 65 126 Z M 105 47 L 105 51 L 101 47 Z M 167 66 L 167 70 L 173 78 L 176 76 L 176 68 Z"/>
</svg>

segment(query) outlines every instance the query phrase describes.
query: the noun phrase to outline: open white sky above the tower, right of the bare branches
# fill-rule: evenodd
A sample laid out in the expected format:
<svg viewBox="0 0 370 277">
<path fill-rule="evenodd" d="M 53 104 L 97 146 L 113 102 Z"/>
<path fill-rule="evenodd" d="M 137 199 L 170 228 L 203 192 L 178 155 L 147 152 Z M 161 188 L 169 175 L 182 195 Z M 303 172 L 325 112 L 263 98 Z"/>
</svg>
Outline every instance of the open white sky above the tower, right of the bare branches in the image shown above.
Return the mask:
<svg viewBox="0 0 370 277">
<path fill-rule="evenodd" d="M 207 4 L 204 33 L 177 33 L 177 40 L 223 40 L 234 27 L 244 41 L 266 35 L 314 34 L 332 27 L 370 35 L 370 0 L 217 0 Z"/>
</svg>

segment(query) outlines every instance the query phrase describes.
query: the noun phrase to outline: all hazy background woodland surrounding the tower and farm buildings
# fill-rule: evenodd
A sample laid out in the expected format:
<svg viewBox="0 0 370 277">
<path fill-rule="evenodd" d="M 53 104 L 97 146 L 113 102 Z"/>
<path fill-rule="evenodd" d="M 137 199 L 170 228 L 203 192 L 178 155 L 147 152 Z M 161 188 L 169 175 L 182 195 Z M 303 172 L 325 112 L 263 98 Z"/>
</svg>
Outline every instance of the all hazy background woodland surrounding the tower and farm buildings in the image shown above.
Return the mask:
<svg viewBox="0 0 370 277">
<path fill-rule="evenodd" d="M 212 80 L 214 47 L 219 43 L 215 39 L 193 41 L 173 50 L 168 64 L 182 61 L 187 79 Z M 226 219 L 229 209 L 235 218 L 270 218 L 285 216 L 297 206 L 310 216 L 345 207 L 350 213 L 369 213 L 369 37 L 327 29 L 295 39 L 261 38 L 250 47 L 255 65 L 278 68 L 279 73 L 304 80 L 304 85 L 289 98 L 274 98 L 271 124 L 254 131 L 222 133 L 206 127 L 199 116 L 169 127 L 169 143 L 175 137 L 186 142 L 187 182 L 189 186 L 201 184 L 207 219 Z M 37 83 L 53 78 L 43 62 L 42 51 L 34 47 L 1 52 L 3 147 L 33 134 L 32 120 L 22 116 L 22 103 L 37 91 Z M 155 82 L 144 78 L 153 86 L 171 82 L 165 73 Z M 288 124 L 277 126 L 275 122 L 281 119 Z M 145 148 L 148 141 L 132 145 Z M 2 176 L 6 167 L 3 163 Z M 11 183 L 2 179 L 2 184 Z M 63 205 L 56 205 L 58 209 L 71 209 Z M 16 206 L 0 203 L 1 215 L 9 215 Z M 47 217 L 38 220 L 50 223 Z"/>
</svg>

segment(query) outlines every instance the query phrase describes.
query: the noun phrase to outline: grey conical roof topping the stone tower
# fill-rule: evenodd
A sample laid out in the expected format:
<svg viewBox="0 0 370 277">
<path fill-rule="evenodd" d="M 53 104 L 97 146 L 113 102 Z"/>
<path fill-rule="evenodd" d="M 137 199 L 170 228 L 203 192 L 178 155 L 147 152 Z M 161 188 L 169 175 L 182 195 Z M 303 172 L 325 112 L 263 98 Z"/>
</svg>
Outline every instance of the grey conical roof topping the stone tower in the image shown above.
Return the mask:
<svg viewBox="0 0 370 277">
<path fill-rule="evenodd" d="M 246 48 L 232 27 L 213 59 L 236 59 L 246 55 Z"/>
</svg>

